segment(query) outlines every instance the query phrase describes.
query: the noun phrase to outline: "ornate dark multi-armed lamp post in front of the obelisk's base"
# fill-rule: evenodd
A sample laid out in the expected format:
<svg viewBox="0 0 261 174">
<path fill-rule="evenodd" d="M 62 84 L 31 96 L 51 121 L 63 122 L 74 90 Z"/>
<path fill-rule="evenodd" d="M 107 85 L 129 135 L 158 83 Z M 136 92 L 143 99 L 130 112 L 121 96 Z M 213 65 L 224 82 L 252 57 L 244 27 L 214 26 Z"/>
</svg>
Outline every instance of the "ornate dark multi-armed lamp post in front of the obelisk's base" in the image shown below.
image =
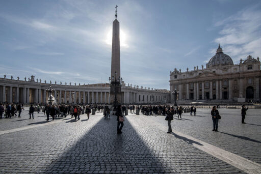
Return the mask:
<svg viewBox="0 0 261 174">
<path fill-rule="evenodd" d="M 119 76 L 117 77 L 117 72 L 115 71 L 114 73 L 115 76 L 109 77 L 109 81 L 110 81 L 110 87 L 111 87 L 111 92 L 114 93 L 114 102 L 113 102 L 113 106 L 116 109 L 116 107 L 118 106 L 118 100 L 117 100 L 117 93 L 121 92 L 121 82 L 122 82 L 122 78 Z"/>
</svg>

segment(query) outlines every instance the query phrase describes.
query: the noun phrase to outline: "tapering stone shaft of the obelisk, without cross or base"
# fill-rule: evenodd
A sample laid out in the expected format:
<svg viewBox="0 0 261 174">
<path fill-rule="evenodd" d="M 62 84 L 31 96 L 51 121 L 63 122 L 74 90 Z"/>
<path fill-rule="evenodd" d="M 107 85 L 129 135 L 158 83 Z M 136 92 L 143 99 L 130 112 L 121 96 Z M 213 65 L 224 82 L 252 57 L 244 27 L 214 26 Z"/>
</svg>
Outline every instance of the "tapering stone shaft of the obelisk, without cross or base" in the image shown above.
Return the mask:
<svg viewBox="0 0 261 174">
<path fill-rule="evenodd" d="M 117 75 L 115 77 L 115 71 Z M 120 23 L 117 19 L 113 21 L 112 28 L 112 67 L 111 78 L 118 78 L 120 76 Z"/>
</svg>

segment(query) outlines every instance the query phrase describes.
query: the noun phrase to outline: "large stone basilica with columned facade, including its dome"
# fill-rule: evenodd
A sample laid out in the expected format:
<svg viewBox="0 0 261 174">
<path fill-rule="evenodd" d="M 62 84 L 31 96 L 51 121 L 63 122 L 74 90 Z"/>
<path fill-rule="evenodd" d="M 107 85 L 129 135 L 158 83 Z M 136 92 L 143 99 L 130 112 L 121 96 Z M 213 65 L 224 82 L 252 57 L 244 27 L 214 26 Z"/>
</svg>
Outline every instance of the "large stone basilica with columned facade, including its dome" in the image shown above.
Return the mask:
<svg viewBox="0 0 261 174">
<path fill-rule="evenodd" d="M 170 72 L 170 91 L 178 91 L 177 100 L 260 101 L 261 71 L 259 57 L 249 55 L 239 64 L 218 47 L 216 54 L 201 69 Z M 171 95 L 171 101 L 174 95 Z M 242 101 L 242 102 L 244 102 Z"/>
</svg>

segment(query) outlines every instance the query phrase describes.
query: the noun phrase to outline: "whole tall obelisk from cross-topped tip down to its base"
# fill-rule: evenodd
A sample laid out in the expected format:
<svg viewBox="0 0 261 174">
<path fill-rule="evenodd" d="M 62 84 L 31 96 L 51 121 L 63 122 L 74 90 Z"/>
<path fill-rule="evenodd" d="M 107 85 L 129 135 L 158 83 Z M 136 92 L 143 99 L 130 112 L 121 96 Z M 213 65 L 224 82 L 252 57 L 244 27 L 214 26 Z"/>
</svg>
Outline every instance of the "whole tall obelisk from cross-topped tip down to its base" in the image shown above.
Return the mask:
<svg viewBox="0 0 261 174">
<path fill-rule="evenodd" d="M 121 103 L 121 84 L 120 77 L 120 23 L 117 20 L 117 5 L 115 7 L 115 20 L 112 27 L 112 66 L 111 66 L 111 104 Z M 117 82 L 116 82 L 117 81 Z M 116 94 L 116 97 L 115 97 Z M 117 100 L 116 100 L 117 98 Z M 117 101 L 117 102 L 116 102 Z"/>
</svg>

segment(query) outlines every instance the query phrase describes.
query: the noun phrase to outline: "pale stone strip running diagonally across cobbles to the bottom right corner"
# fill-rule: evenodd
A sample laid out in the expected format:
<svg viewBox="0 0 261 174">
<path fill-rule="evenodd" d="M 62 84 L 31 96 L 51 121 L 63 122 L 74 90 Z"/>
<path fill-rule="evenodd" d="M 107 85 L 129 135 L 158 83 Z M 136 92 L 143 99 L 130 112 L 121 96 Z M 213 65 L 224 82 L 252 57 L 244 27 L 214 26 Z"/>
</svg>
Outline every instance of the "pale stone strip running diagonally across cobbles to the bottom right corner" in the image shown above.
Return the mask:
<svg viewBox="0 0 261 174">
<path fill-rule="evenodd" d="M 139 116 L 138 116 L 139 117 Z M 136 119 L 136 118 L 135 118 Z M 128 121 L 134 126 L 135 122 L 133 119 L 128 119 Z M 143 120 L 144 121 L 144 120 Z M 168 126 L 163 126 L 162 124 L 155 123 L 149 119 L 146 119 L 146 122 L 150 122 L 151 125 L 154 125 L 155 127 L 161 129 L 162 131 L 166 132 L 168 130 Z M 167 123 L 166 123 L 167 125 Z M 136 126 L 135 126 L 136 127 Z M 249 174 L 259 174 L 261 173 L 261 164 L 258 164 L 256 162 L 253 162 L 251 160 L 248 160 L 246 158 L 243 158 L 239 155 L 233 154 L 231 152 L 225 151 L 221 148 L 218 148 L 216 146 L 213 146 L 212 144 L 206 143 L 204 141 L 201 141 L 199 139 L 193 138 L 192 136 L 189 136 L 187 134 L 173 131 L 172 132 L 178 136 L 185 137 L 187 139 L 190 139 L 192 141 L 195 141 L 197 143 L 192 143 L 192 145 L 198 149 L 200 149 L 203 152 L 206 152 L 234 167 L 239 168 L 240 170 L 243 170 L 246 173 Z"/>
</svg>

